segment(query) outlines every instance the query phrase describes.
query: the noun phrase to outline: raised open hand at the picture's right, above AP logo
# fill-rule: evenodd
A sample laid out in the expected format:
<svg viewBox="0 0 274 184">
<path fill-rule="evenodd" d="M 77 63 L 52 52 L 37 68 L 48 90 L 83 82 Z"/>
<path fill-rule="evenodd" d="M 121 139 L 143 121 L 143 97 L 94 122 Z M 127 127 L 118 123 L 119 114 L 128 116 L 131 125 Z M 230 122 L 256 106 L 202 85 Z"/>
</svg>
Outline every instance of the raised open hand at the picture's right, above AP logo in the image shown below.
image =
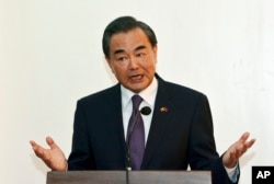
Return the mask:
<svg viewBox="0 0 274 184">
<path fill-rule="evenodd" d="M 249 133 L 244 133 L 238 141 L 228 148 L 222 157 L 222 163 L 226 168 L 236 166 L 240 157 L 255 142 L 255 139 L 248 141 L 249 135 Z"/>
</svg>

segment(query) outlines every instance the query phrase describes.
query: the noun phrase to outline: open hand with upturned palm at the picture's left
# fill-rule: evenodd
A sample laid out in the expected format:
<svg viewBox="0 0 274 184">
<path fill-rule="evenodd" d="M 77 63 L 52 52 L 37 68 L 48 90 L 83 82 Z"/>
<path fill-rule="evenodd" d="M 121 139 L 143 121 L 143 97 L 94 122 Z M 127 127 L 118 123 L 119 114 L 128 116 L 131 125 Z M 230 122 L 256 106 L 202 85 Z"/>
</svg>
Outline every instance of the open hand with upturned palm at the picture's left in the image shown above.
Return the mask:
<svg viewBox="0 0 274 184">
<path fill-rule="evenodd" d="M 45 149 L 31 140 L 30 143 L 35 154 L 41 158 L 53 171 L 66 171 L 67 160 L 61 149 L 55 143 L 52 137 L 46 137 L 46 142 L 50 149 Z"/>
</svg>

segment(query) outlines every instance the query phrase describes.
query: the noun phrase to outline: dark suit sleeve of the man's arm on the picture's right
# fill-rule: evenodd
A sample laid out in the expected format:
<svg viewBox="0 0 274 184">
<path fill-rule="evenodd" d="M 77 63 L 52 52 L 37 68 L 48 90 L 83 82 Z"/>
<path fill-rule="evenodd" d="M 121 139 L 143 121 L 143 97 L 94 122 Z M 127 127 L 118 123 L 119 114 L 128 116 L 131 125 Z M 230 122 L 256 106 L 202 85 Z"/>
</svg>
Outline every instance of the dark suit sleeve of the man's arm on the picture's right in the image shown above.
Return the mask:
<svg viewBox="0 0 274 184">
<path fill-rule="evenodd" d="M 190 140 L 191 169 L 210 170 L 213 184 L 232 184 L 222 165 L 222 157 L 216 151 L 213 118 L 205 95 L 202 95 L 196 104 Z"/>
</svg>

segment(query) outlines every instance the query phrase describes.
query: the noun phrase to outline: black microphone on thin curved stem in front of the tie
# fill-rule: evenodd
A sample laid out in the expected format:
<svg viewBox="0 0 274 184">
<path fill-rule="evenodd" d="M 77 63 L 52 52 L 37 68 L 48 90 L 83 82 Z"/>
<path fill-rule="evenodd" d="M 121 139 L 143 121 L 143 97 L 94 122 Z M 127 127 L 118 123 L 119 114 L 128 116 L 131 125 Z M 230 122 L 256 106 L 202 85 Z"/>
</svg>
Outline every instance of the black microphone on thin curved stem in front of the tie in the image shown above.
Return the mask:
<svg viewBox="0 0 274 184">
<path fill-rule="evenodd" d="M 149 106 L 144 106 L 139 112 L 140 112 L 140 114 L 147 116 L 147 115 L 149 115 L 151 113 L 151 108 Z M 130 171 L 132 170 L 129 146 L 130 146 L 130 138 L 132 138 L 132 135 L 133 135 L 133 130 L 134 130 L 135 124 L 137 122 L 137 117 L 138 116 L 135 116 L 134 123 L 128 128 L 128 133 L 127 133 L 127 139 L 126 139 L 126 149 L 127 149 L 126 150 L 126 171 Z"/>
</svg>

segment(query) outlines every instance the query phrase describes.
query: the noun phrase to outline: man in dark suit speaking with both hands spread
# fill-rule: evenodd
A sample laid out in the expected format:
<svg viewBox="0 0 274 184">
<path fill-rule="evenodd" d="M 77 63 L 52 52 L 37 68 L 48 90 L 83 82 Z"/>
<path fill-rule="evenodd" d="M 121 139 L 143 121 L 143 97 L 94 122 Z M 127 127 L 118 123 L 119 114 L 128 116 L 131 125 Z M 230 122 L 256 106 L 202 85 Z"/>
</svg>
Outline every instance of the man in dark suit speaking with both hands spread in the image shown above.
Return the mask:
<svg viewBox="0 0 274 184">
<path fill-rule="evenodd" d="M 114 20 L 104 31 L 103 51 L 118 83 L 78 101 L 68 161 L 50 137 L 46 138 L 50 149 L 31 141 L 37 157 L 55 171 L 125 169 L 127 150 L 136 153 L 129 148 L 135 146 L 129 142 L 136 140 L 135 133 L 127 127 L 129 122 L 136 127 L 140 124 L 137 115 L 132 115 L 134 120 L 130 117 L 132 96 L 138 94 L 138 108 L 148 106 L 152 112 L 141 115 L 146 148 L 137 170 L 186 170 L 190 165 L 210 170 L 214 184 L 238 183 L 238 160 L 255 140 L 248 140 L 244 133 L 218 156 L 207 97 L 156 73 L 157 38 L 147 24 L 132 16 Z"/>
</svg>

